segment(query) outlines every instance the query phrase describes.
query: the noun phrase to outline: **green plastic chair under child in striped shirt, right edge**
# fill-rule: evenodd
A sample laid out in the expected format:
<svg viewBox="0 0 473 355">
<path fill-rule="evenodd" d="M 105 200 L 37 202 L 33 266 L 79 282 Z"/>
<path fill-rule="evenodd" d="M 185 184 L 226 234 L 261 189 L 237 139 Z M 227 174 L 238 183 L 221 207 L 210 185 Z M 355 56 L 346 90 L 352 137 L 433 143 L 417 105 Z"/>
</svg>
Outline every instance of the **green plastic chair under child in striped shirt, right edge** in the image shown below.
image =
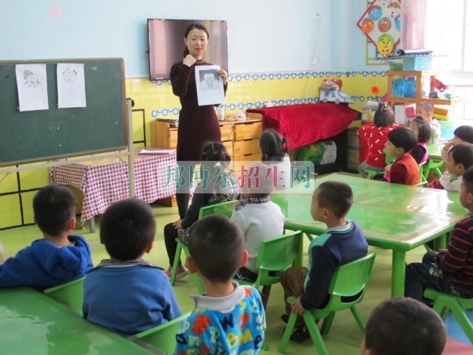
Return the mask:
<svg viewBox="0 0 473 355">
<path fill-rule="evenodd" d="M 424 297 L 433 299 L 433 310 L 435 310 L 435 313 L 440 315 L 442 319 L 445 319 L 448 311 L 451 310 L 458 324 L 460 324 L 468 339 L 470 339 L 470 342 L 473 344 L 473 325 L 464 311 L 465 309 L 473 308 L 473 298 L 464 299 L 463 297 L 454 296 L 453 294 L 434 290 L 433 288 L 427 288 L 424 291 Z"/>
</svg>

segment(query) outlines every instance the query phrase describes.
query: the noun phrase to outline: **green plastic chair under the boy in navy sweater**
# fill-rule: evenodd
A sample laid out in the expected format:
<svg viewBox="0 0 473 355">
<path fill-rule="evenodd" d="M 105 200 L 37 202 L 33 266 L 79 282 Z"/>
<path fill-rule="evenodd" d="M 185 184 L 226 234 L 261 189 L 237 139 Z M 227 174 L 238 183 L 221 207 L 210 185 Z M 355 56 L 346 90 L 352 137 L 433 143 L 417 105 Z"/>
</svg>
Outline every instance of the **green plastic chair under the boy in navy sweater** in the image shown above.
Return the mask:
<svg viewBox="0 0 473 355">
<path fill-rule="evenodd" d="M 330 301 L 328 301 L 327 306 L 321 309 L 315 308 L 312 310 L 305 310 L 303 313 L 303 318 L 305 325 L 309 330 L 310 338 L 312 338 L 312 342 L 314 342 L 315 348 L 320 355 L 328 355 L 328 350 L 323 343 L 322 336 L 325 336 L 328 331 L 330 331 L 330 326 L 332 326 L 335 312 L 349 308 L 361 331 L 364 332 L 364 321 L 355 305 L 360 303 L 363 298 L 364 286 L 367 284 L 369 276 L 371 275 L 375 256 L 375 253 L 371 253 L 364 258 L 360 258 L 339 267 L 332 276 L 332 281 L 330 281 L 328 287 Z M 358 297 L 355 300 L 351 302 L 342 302 L 342 297 L 353 297 L 356 295 L 358 295 Z M 297 297 L 294 296 L 289 297 L 287 302 L 292 303 L 296 299 Z M 287 343 L 289 342 L 289 338 L 294 329 L 294 324 L 296 324 L 296 318 L 296 313 L 291 313 L 289 316 L 286 330 L 284 331 L 279 346 L 280 354 L 286 352 Z M 316 319 L 324 319 L 320 331 L 316 326 Z"/>
</svg>

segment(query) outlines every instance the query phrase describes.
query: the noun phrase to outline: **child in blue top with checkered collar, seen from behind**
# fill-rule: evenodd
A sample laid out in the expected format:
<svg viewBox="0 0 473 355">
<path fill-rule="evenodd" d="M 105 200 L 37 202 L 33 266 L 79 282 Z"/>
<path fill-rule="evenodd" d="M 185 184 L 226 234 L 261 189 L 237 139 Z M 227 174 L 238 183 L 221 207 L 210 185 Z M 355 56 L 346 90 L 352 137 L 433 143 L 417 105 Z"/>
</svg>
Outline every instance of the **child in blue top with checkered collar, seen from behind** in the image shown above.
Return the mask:
<svg viewBox="0 0 473 355">
<path fill-rule="evenodd" d="M 163 269 L 143 260 L 153 246 L 156 221 L 147 203 L 127 198 L 110 205 L 100 221 L 102 260 L 83 283 L 83 315 L 123 335 L 140 333 L 181 315 Z"/>
</svg>

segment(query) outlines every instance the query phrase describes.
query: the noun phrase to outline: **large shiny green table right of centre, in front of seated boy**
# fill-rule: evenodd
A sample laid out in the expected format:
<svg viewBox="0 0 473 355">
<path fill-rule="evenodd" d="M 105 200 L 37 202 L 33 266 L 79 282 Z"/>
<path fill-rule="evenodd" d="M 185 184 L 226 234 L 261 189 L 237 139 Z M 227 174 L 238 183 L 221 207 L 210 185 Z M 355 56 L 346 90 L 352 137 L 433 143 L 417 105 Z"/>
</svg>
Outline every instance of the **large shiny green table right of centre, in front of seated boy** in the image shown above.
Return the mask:
<svg viewBox="0 0 473 355">
<path fill-rule="evenodd" d="M 330 180 L 346 182 L 353 189 L 354 203 L 347 218 L 358 223 L 368 244 L 392 250 L 392 296 L 404 294 L 406 252 L 433 239 L 437 248 L 445 248 L 445 235 L 467 216 L 457 192 L 333 173 L 316 178 L 310 187 L 300 184 L 271 195 L 286 217 L 284 228 L 309 235 L 326 230 L 324 223 L 310 216 L 310 205 L 314 189 Z"/>
</svg>

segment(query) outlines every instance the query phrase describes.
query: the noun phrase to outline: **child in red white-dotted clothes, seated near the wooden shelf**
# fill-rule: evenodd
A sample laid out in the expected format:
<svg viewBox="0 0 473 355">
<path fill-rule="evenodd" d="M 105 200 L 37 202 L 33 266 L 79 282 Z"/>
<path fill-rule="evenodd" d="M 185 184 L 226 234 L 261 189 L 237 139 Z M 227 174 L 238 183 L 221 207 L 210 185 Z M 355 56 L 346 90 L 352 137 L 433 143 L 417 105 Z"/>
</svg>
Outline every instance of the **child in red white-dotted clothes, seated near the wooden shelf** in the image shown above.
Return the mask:
<svg viewBox="0 0 473 355">
<path fill-rule="evenodd" d="M 358 166 L 358 171 L 363 178 L 368 176 L 365 172 L 367 169 L 379 172 L 384 171 L 386 156 L 383 149 L 387 141 L 387 134 L 392 129 L 399 127 L 399 125 L 394 124 L 394 111 L 387 104 L 378 104 L 373 120 L 374 123 L 371 125 L 363 125 L 358 128 L 358 135 L 366 137 L 369 141 L 367 159 Z"/>
</svg>

